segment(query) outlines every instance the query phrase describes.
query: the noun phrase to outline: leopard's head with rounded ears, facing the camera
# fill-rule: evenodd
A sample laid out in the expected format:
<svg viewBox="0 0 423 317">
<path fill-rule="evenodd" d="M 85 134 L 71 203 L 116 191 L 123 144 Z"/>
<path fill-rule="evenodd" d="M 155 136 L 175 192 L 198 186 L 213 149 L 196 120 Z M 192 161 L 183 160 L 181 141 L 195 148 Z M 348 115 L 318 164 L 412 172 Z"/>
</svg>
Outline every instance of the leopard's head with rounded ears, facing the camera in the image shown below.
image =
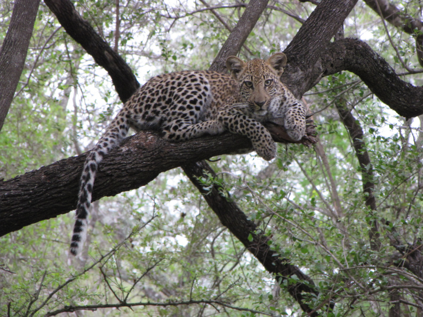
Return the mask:
<svg viewBox="0 0 423 317">
<path fill-rule="evenodd" d="M 226 67 L 239 84 L 239 92 L 248 111 L 258 116 L 267 114 L 271 101 L 280 98 L 285 86 L 280 82 L 286 55 L 276 53 L 268 60 L 253 59 L 245 63 L 229 56 Z"/>
</svg>

